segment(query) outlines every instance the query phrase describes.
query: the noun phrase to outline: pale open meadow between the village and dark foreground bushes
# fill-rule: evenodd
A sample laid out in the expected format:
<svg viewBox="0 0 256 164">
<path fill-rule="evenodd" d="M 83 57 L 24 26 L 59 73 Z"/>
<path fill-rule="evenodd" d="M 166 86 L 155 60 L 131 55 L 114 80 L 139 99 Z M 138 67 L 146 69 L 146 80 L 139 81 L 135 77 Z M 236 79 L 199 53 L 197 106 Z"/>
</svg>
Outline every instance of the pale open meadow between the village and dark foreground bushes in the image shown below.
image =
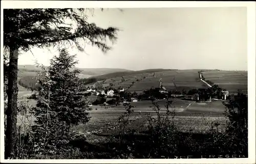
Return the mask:
<svg viewBox="0 0 256 164">
<path fill-rule="evenodd" d="M 173 104 L 170 105 L 169 110 L 176 113 L 175 123 L 183 132 L 189 131 L 190 129 L 195 129 L 196 131 L 194 132 L 196 133 L 205 133 L 208 129 L 208 124 L 212 121 L 217 120 L 221 121 L 224 124 L 223 121 L 225 120 L 225 107 L 221 101 L 199 103 L 195 101 L 188 101 L 182 99 L 172 100 Z M 165 115 L 166 101 L 159 100 L 157 102 L 159 107 L 161 108 L 160 113 Z M 28 100 L 28 105 L 35 106 L 36 101 L 30 99 Z M 134 112 L 130 118 L 133 121 L 129 126 L 127 126 L 127 128 L 134 128 L 136 130 L 143 131 L 143 128 L 145 128 L 144 126 L 146 125 L 146 118 L 148 113 L 150 113 L 151 116 L 156 116 L 156 112 L 153 110 L 154 105 L 152 104 L 152 101 L 131 102 L 131 105 L 134 106 Z M 91 108 L 92 110 L 88 112 L 90 113 L 90 116 L 92 118 L 88 122 L 88 124 L 81 124 L 77 127 L 74 127 L 74 129 L 77 129 L 78 132 L 84 133 L 88 130 L 101 131 L 106 127 L 106 129 L 113 128 L 109 126 L 114 126 L 117 123 L 118 117 L 123 115 L 125 112 L 125 107 L 122 104 L 118 106 L 94 105 L 91 106 Z M 23 118 L 24 117 L 22 115 L 18 116 L 18 124 L 22 124 L 20 121 L 22 121 Z M 32 117 L 32 120 L 35 120 L 35 118 Z M 29 120 L 27 122 L 29 123 Z M 80 131 L 83 128 L 84 130 Z"/>
</svg>

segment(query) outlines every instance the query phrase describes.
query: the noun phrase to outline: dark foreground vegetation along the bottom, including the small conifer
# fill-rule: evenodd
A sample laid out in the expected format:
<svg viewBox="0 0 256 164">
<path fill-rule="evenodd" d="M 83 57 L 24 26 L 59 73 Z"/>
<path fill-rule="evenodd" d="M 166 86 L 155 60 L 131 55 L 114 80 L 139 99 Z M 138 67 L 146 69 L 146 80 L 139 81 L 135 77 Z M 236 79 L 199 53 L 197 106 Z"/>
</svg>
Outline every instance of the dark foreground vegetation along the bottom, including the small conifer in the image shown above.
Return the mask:
<svg viewBox="0 0 256 164">
<path fill-rule="evenodd" d="M 137 130 L 132 124 L 133 106 L 124 103 L 125 113 L 121 115 L 112 134 L 104 140 L 89 143 L 89 139 L 73 131 L 76 126 L 90 122 L 89 106 L 83 94 L 79 70 L 73 68 L 75 56 L 65 49 L 59 57 L 54 57 L 51 66 L 38 75 L 36 107 L 20 104 L 18 114 L 29 122 L 22 121 L 17 126 L 17 159 L 87 159 L 87 158 L 205 158 L 236 155 L 247 157 L 247 96 L 238 94 L 236 98 L 223 103 L 228 118 L 226 128 L 220 130 L 219 122 L 209 123 L 205 133 L 180 131 L 175 124 L 176 113 L 166 99 L 165 113 L 153 103 L 155 115 L 146 116 L 146 128 Z M 62 64 L 59 64 L 62 63 Z M 63 69 L 64 68 L 64 69 Z M 32 117 L 36 120 L 33 124 Z M 129 128 L 127 128 L 129 126 Z M 211 155 L 211 156 L 210 156 Z"/>
</svg>

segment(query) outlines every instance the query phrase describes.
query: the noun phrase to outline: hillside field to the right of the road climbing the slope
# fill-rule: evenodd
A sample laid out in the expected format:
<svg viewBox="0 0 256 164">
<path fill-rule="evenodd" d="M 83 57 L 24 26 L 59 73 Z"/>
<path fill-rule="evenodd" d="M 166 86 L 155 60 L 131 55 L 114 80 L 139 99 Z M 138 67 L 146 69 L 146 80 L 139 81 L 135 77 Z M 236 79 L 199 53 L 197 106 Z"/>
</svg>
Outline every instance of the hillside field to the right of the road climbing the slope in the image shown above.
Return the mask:
<svg viewBox="0 0 256 164">
<path fill-rule="evenodd" d="M 247 71 L 205 71 L 203 76 L 206 80 L 228 90 L 230 94 L 237 93 L 238 90 L 247 94 Z"/>
</svg>

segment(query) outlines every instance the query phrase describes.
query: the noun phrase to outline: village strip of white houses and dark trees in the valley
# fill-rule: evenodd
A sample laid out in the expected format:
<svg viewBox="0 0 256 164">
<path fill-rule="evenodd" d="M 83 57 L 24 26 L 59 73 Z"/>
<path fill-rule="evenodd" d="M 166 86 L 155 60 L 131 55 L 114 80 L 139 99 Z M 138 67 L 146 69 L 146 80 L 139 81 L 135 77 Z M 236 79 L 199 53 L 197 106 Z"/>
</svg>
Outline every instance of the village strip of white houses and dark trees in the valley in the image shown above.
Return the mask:
<svg viewBox="0 0 256 164">
<path fill-rule="evenodd" d="M 202 77 L 200 78 L 202 80 Z M 206 83 L 205 81 L 203 81 Z M 99 99 L 94 102 L 90 102 L 90 104 L 104 104 L 104 105 L 116 105 L 120 103 L 126 102 L 138 102 L 143 100 L 163 100 L 168 98 L 179 98 L 183 100 L 191 100 L 197 102 L 211 102 L 211 100 L 221 100 L 227 101 L 228 99 L 232 99 L 233 95 L 229 95 L 229 92 L 226 90 L 221 90 L 219 93 L 218 90 L 212 90 L 211 86 L 208 85 L 209 88 L 199 88 L 192 89 L 189 91 L 179 92 L 177 90 L 167 90 L 163 85 L 161 79 L 159 80 L 159 86 L 156 88 L 151 88 L 149 90 L 144 90 L 143 93 L 133 93 L 126 91 L 127 89 L 119 87 L 118 89 L 114 89 L 113 87 L 105 87 L 104 89 L 98 89 L 95 85 L 92 85 L 91 88 L 88 86 L 86 93 L 89 95 L 97 96 Z"/>
</svg>

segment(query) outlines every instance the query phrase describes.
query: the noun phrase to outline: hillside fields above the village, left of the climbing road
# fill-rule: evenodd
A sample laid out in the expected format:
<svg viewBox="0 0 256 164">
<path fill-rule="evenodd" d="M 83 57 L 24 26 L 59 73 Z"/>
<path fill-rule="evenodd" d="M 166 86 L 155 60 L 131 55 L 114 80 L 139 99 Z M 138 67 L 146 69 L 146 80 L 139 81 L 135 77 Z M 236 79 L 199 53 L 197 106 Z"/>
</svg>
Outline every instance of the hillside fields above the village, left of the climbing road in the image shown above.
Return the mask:
<svg viewBox="0 0 256 164">
<path fill-rule="evenodd" d="M 142 92 L 146 89 L 159 87 L 159 80 L 161 79 L 162 85 L 167 90 L 177 89 L 182 91 L 183 89 L 199 89 L 207 88 L 207 86 L 202 83 L 198 77 L 198 70 L 185 70 L 185 71 L 162 71 L 154 73 L 144 73 L 144 74 L 135 74 L 129 76 L 123 76 L 126 81 L 120 82 L 117 81 L 113 83 L 111 79 L 107 79 L 103 84 L 103 87 L 109 86 L 110 83 L 114 84 L 114 88 L 128 88 L 127 91 L 130 92 Z M 145 77 L 145 78 L 144 78 Z M 118 78 L 118 77 L 116 77 Z M 138 81 L 137 81 L 138 79 Z M 134 84 L 133 84 L 134 82 Z"/>
</svg>

